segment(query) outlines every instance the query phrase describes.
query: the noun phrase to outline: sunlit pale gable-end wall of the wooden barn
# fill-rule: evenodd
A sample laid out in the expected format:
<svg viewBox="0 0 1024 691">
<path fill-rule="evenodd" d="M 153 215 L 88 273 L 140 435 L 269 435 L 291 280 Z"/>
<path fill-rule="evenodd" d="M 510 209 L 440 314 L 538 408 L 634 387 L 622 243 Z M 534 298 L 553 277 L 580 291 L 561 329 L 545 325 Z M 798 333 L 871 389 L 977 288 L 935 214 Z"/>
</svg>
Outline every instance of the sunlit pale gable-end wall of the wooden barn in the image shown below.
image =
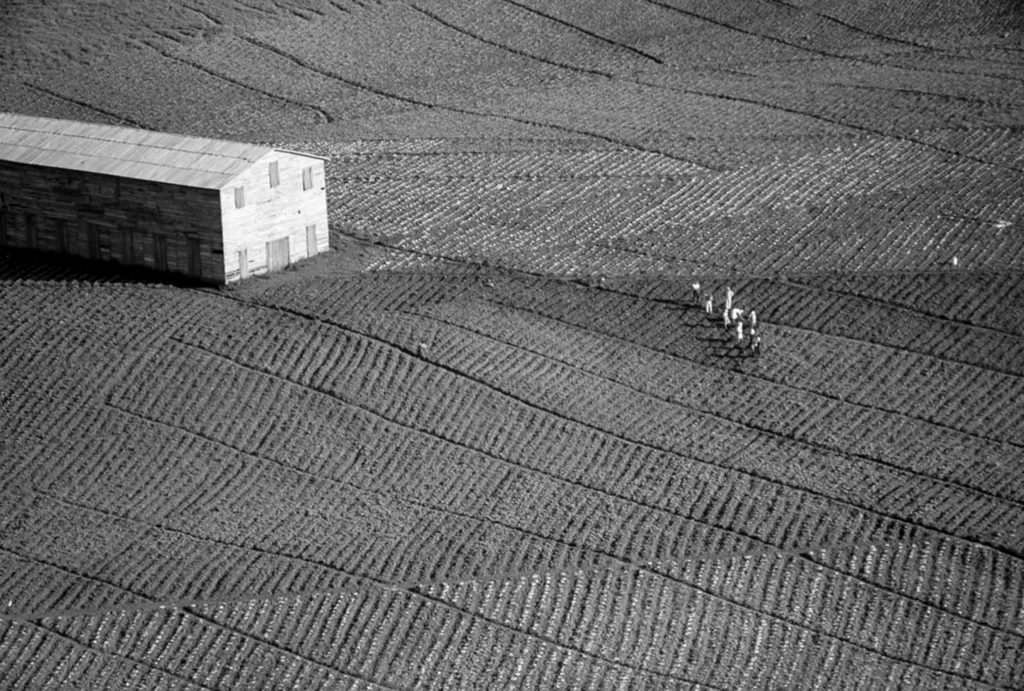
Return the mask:
<svg viewBox="0 0 1024 691">
<path fill-rule="evenodd" d="M 278 185 L 270 186 L 270 164 L 278 163 Z M 302 169 L 312 168 L 312 186 L 302 189 Z M 237 188 L 245 203 L 236 207 Z M 267 243 L 288 237 L 289 262 L 330 249 L 327 222 L 327 179 L 324 161 L 297 154 L 271 152 L 220 190 L 224 228 L 224 275 L 243 277 L 268 269 Z M 307 247 L 306 226 L 315 225 L 315 247 Z"/>
</svg>

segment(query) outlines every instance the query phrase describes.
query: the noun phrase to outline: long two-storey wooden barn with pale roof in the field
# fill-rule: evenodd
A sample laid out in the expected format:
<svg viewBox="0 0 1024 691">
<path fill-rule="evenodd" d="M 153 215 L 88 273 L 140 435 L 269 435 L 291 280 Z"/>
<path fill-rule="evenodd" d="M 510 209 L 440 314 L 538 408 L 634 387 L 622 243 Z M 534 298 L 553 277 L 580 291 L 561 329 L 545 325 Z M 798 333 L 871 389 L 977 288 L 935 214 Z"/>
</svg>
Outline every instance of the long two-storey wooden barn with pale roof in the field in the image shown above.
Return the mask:
<svg viewBox="0 0 1024 691">
<path fill-rule="evenodd" d="M 230 283 L 327 251 L 324 161 L 0 113 L 0 245 Z"/>
</svg>

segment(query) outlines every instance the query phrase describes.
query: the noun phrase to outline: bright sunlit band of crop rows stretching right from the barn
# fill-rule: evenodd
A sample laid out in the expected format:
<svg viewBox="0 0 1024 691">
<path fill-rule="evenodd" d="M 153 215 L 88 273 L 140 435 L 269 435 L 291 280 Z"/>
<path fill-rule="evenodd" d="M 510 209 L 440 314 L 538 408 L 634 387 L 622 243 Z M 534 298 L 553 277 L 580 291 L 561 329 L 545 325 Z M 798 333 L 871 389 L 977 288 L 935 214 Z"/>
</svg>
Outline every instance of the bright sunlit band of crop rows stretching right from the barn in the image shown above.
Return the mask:
<svg viewBox="0 0 1024 691">
<path fill-rule="evenodd" d="M 625 163 L 629 159 L 639 165 L 649 158 L 622 156 L 627 171 L 634 169 Z M 555 273 L 679 274 L 734 266 L 808 271 L 837 264 L 850 270 L 920 268 L 953 254 L 969 266 L 997 266 L 1020 263 L 1024 251 L 1013 233 L 988 232 L 972 220 L 1014 217 L 1020 202 L 1011 180 L 965 160 L 945 162 L 941 153 L 881 138 L 672 184 L 626 177 L 539 186 L 538 180 L 503 177 L 559 166 L 564 158 L 546 153 L 522 163 L 473 157 L 479 167 L 468 173 L 471 181 L 456 185 L 427 172 L 454 172 L 447 157 L 417 158 L 429 159 L 417 161 L 427 166 L 425 177 L 394 177 L 387 161 L 359 163 L 358 176 L 391 182 L 386 198 L 376 182 L 346 180 L 343 161 L 332 166 L 330 186 L 340 202 L 333 222 L 416 253 L 484 256 Z M 961 180 L 955 210 L 932 184 L 937 167 Z M 908 189 L 916 191 L 907 196 Z M 965 213 L 972 218 L 962 218 Z"/>
</svg>

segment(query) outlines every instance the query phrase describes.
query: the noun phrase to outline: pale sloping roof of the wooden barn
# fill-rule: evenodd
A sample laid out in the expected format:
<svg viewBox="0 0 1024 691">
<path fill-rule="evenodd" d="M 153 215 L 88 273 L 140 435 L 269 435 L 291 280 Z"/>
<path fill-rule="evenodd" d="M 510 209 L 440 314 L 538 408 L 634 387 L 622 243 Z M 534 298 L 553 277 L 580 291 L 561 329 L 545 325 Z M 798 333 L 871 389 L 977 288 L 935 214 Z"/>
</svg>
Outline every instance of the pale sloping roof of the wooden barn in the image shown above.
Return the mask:
<svg viewBox="0 0 1024 691">
<path fill-rule="evenodd" d="M 240 141 L 0 113 L 0 161 L 186 187 L 220 189 L 273 150 Z"/>
</svg>

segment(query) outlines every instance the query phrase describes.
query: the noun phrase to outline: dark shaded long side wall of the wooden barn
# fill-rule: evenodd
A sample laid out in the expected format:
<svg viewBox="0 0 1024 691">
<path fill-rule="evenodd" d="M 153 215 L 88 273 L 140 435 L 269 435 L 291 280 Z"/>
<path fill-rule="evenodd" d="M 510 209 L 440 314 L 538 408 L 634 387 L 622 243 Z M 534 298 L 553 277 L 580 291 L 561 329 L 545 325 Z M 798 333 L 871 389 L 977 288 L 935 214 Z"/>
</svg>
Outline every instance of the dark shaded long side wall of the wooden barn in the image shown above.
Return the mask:
<svg viewBox="0 0 1024 691">
<path fill-rule="evenodd" d="M 0 162 L 0 245 L 224 280 L 216 189 Z"/>
</svg>

